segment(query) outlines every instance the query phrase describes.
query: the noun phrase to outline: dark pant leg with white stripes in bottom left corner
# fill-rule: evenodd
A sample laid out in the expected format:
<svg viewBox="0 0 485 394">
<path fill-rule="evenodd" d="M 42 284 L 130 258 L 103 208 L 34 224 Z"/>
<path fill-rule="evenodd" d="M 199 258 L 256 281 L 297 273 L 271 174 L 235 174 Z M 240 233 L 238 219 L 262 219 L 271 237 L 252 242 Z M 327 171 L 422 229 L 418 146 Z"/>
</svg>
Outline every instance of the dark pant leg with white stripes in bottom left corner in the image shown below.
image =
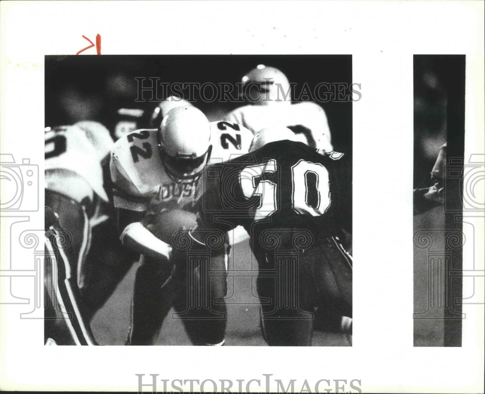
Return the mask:
<svg viewBox="0 0 485 394">
<path fill-rule="evenodd" d="M 54 216 L 46 209 L 46 219 Z M 44 340 L 52 345 L 97 345 L 89 324 L 83 318 L 76 281 L 71 278 L 72 265 L 68 262 L 69 237 L 52 220 L 46 221 L 44 258 Z"/>
</svg>

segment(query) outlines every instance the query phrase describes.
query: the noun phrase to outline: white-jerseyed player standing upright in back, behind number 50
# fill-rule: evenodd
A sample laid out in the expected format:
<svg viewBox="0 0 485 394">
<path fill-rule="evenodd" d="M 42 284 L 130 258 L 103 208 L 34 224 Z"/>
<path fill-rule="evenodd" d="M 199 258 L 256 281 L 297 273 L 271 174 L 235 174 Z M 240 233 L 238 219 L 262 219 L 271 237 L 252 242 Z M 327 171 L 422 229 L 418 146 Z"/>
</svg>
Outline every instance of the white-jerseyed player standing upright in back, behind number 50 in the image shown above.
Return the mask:
<svg viewBox="0 0 485 394">
<path fill-rule="evenodd" d="M 242 77 L 247 105 L 224 119 L 253 133 L 269 127 L 287 127 L 303 134 L 312 148 L 333 150 L 330 129 L 323 108 L 314 102 L 291 103 L 288 78 L 275 67 L 259 65 Z"/>
</svg>

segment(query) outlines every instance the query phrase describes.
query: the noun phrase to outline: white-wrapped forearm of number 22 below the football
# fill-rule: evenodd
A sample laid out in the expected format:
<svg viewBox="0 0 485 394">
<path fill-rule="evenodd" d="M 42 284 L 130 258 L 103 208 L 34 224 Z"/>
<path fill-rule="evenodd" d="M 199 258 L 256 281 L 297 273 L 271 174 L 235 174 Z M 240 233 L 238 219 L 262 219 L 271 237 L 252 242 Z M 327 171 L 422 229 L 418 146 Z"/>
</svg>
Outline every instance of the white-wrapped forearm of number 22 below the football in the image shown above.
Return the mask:
<svg viewBox="0 0 485 394">
<path fill-rule="evenodd" d="M 121 243 L 130 250 L 155 259 L 169 259 L 172 247 L 158 239 L 140 222 L 130 223 L 121 234 Z"/>
</svg>

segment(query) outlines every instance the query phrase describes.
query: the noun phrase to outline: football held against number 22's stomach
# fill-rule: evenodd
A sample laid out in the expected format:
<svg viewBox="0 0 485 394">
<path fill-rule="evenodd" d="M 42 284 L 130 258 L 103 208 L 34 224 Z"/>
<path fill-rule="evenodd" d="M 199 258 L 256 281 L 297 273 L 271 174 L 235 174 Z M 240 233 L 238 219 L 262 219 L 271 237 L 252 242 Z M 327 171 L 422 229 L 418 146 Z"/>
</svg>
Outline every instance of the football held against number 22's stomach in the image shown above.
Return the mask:
<svg viewBox="0 0 485 394">
<path fill-rule="evenodd" d="M 172 244 L 172 235 L 176 231 L 182 228 L 189 230 L 195 226 L 196 215 L 192 212 L 174 209 L 158 213 L 150 222 L 146 228 L 158 239 Z"/>
</svg>

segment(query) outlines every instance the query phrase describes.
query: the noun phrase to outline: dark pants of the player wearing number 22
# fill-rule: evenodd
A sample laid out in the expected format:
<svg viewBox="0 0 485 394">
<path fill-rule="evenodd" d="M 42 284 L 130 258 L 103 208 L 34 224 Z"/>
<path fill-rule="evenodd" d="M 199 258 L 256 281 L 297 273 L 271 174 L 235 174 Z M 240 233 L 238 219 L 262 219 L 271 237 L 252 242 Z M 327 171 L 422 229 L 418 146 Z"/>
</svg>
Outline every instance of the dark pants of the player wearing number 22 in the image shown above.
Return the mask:
<svg viewBox="0 0 485 394">
<path fill-rule="evenodd" d="M 175 249 L 175 247 L 174 247 Z M 226 255 L 209 259 L 174 250 L 173 258 L 142 256 L 131 304 L 129 345 L 152 345 L 172 307 L 194 345 L 219 345 L 226 330 Z"/>
</svg>

